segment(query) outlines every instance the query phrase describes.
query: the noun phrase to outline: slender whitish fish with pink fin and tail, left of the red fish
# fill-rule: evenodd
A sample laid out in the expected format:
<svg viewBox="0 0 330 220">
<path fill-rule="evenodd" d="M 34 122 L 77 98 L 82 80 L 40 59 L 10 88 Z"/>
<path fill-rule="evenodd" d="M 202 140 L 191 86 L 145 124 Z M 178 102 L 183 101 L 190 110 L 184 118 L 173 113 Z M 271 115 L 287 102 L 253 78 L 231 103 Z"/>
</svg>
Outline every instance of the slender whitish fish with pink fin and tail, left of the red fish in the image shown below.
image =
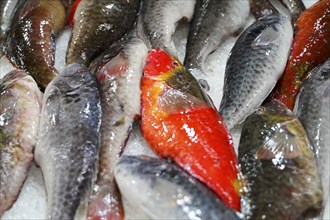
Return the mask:
<svg viewBox="0 0 330 220">
<path fill-rule="evenodd" d="M 88 219 L 124 218 L 113 170 L 133 121 L 140 115 L 140 81 L 147 55 L 142 39 L 130 38 L 121 51 L 96 72 L 102 109 L 100 158 Z"/>
</svg>

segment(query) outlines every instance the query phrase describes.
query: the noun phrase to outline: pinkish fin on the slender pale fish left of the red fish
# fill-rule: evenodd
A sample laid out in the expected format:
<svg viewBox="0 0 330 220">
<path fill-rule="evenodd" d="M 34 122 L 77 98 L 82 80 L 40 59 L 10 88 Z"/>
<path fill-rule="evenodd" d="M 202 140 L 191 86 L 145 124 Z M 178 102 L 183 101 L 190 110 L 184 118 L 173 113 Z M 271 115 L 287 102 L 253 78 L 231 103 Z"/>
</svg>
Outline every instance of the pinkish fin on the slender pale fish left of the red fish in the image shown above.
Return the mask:
<svg viewBox="0 0 330 220">
<path fill-rule="evenodd" d="M 129 69 L 129 62 L 124 52 L 120 52 L 112 58 L 96 73 L 98 82 L 103 82 L 114 76 L 126 73 Z"/>
</svg>

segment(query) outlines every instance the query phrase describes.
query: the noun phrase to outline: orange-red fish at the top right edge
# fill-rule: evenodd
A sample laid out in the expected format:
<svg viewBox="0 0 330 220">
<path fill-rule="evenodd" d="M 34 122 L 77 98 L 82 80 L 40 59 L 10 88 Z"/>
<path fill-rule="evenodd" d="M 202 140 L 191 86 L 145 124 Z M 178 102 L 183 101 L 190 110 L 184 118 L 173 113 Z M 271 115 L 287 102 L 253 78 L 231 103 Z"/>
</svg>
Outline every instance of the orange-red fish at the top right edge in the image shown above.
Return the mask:
<svg viewBox="0 0 330 220">
<path fill-rule="evenodd" d="M 330 1 L 321 0 L 299 17 L 289 61 L 268 100 L 277 99 L 293 109 L 302 80 L 310 70 L 330 58 L 328 39 Z"/>
</svg>

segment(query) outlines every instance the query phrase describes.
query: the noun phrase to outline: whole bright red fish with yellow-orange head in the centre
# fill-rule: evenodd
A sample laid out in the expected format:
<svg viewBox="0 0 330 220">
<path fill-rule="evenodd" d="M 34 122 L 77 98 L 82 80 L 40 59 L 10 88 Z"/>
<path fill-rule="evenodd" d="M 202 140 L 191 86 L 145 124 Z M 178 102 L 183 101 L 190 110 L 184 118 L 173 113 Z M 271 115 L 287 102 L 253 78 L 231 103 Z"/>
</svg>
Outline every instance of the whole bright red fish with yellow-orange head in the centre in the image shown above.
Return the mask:
<svg viewBox="0 0 330 220">
<path fill-rule="evenodd" d="M 239 211 L 237 157 L 212 101 L 191 73 L 162 49 L 149 52 L 143 73 L 141 131 L 150 148 Z"/>
</svg>

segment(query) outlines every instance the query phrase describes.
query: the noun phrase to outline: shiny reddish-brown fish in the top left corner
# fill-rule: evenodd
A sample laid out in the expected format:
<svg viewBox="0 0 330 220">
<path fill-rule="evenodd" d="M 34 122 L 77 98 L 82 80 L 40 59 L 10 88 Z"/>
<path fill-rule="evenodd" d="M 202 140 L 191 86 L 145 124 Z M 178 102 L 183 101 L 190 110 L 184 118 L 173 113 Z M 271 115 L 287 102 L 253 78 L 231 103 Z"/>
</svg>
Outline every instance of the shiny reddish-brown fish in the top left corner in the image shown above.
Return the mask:
<svg viewBox="0 0 330 220">
<path fill-rule="evenodd" d="M 42 88 L 56 76 L 55 38 L 65 24 L 60 0 L 20 1 L 4 42 L 4 52 Z"/>
</svg>

